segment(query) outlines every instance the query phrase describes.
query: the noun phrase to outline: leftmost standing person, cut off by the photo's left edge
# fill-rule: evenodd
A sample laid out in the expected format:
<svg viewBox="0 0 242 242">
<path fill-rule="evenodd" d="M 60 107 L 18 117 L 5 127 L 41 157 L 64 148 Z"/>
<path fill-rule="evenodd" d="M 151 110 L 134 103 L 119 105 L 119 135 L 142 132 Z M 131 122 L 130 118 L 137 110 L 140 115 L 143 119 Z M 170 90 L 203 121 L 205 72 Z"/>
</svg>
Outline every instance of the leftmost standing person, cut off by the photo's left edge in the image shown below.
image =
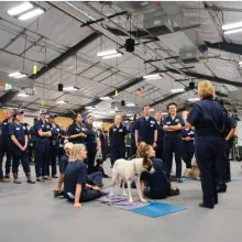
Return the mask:
<svg viewBox="0 0 242 242">
<path fill-rule="evenodd" d="M 1 183 L 9 183 L 10 178 L 10 168 L 11 168 L 11 153 L 10 153 L 10 139 L 9 139 L 9 124 L 12 121 L 12 110 L 6 109 L 4 110 L 6 119 L 2 121 L 1 125 L 1 134 L 0 134 L 0 182 Z M 3 169 L 2 163 L 3 157 L 6 160 L 6 176 L 3 177 Z"/>
</svg>

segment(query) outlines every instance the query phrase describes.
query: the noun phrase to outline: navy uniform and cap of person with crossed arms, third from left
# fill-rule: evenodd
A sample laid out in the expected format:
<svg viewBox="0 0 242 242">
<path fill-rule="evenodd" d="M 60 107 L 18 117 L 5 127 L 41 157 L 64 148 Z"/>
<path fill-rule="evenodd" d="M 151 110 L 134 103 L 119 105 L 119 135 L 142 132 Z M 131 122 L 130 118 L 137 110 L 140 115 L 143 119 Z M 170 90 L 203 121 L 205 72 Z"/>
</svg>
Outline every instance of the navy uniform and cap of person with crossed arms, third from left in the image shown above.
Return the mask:
<svg viewBox="0 0 242 242">
<path fill-rule="evenodd" d="M 46 110 L 41 110 L 41 114 L 46 114 Z M 47 167 L 48 167 L 48 146 L 50 139 L 47 136 L 40 136 L 38 131 L 48 132 L 51 131 L 51 124 L 41 119 L 34 124 L 36 131 L 36 150 L 35 150 L 35 173 L 37 182 L 48 179 Z"/>
</svg>

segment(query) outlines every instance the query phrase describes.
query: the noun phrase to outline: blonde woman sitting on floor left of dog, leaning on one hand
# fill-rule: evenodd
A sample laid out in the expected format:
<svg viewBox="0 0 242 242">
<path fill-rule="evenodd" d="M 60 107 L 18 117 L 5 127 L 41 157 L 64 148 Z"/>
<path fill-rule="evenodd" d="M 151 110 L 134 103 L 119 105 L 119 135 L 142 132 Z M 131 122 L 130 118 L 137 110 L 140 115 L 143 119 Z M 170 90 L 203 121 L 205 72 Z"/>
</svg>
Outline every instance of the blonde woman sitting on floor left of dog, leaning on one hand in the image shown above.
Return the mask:
<svg viewBox="0 0 242 242">
<path fill-rule="evenodd" d="M 87 158 L 87 151 L 84 144 L 75 144 L 69 154 L 69 164 L 66 167 L 64 177 L 64 196 L 74 202 L 74 208 L 81 208 L 80 202 L 91 201 L 102 196 L 101 188 L 86 184 L 87 165 L 82 162 Z M 97 178 L 97 177 L 96 177 Z M 102 177 L 99 177 L 101 184 Z M 96 180 L 96 184 L 97 180 Z"/>
</svg>

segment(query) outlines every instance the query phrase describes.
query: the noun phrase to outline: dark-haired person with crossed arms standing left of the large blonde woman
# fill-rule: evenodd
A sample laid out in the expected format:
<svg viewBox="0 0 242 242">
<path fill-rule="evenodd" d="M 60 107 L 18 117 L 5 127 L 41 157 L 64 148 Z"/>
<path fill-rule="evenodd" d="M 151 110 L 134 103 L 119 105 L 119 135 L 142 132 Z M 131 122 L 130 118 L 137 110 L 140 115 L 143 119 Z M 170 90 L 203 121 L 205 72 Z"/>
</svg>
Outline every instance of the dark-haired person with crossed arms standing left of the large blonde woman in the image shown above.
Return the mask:
<svg viewBox="0 0 242 242">
<path fill-rule="evenodd" d="M 178 183 L 183 183 L 182 179 L 182 128 L 184 125 L 184 120 L 182 117 L 177 116 L 177 103 L 170 102 L 167 106 L 167 116 L 162 124 L 165 131 L 164 148 L 165 148 L 165 164 L 166 174 L 169 178 L 169 173 L 173 167 L 173 153 L 175 153 L 176 162 L 176 179 Z"/>
</svg>

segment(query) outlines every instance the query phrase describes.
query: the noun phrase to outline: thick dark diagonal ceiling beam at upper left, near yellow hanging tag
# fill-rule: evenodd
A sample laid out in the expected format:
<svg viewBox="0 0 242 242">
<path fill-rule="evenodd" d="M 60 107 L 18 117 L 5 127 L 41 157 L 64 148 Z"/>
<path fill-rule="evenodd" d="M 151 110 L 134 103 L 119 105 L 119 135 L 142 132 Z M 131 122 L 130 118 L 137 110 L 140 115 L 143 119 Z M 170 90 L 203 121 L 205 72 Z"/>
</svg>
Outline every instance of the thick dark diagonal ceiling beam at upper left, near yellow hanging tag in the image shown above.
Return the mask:
<svg viewBox="0 0 242 242">
<path fill-rule="evenodd" d="M 53 59 L 51 63 L 46 64 L 41 70 L 37 72 L 36 75 L 31 75 L 30 78 L 31 79 L 37 79 L 38 77 L 41 77 L 42 75 L 47 73 L 50 69 L 58 66 L 59 64 L 65 62 L 67 58 L 72 57 L 77 52 L 79 52 L 81 48 L 86 47 L 88 44 L 90 44 L 91 42 L 96 41 L 99 36 L 100 36 L 100 33 L 97 33 L 97 32 L 88 35 L 82 41 L 80 41 L 79 43 L 77 43 L 76 45 L 70 47 L 68 51 L 63 53 L 61 56 L 58 56 L 57 58 Z"/>
</svg>

